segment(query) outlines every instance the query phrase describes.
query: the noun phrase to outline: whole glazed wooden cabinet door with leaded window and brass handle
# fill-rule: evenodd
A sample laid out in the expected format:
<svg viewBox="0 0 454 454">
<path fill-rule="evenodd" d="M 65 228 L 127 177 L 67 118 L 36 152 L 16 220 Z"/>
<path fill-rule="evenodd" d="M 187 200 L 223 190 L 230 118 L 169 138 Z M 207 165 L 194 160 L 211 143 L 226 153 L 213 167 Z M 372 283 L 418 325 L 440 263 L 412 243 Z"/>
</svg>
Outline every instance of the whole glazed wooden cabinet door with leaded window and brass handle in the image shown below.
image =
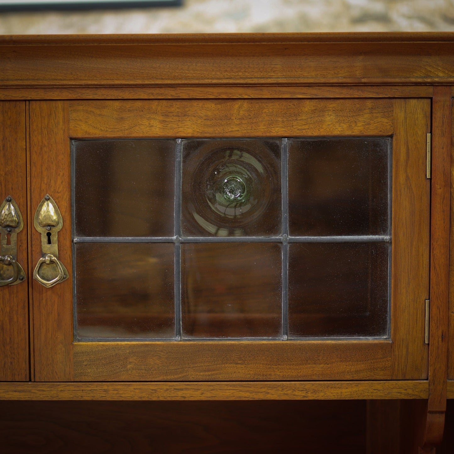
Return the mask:
<svg viewBox="0 0 454 454">
<path fill-rule="evenodd" d="M 429 132 L 429 99 L 30 103 L 35 380 L 426 379 Z"/>
</svg>

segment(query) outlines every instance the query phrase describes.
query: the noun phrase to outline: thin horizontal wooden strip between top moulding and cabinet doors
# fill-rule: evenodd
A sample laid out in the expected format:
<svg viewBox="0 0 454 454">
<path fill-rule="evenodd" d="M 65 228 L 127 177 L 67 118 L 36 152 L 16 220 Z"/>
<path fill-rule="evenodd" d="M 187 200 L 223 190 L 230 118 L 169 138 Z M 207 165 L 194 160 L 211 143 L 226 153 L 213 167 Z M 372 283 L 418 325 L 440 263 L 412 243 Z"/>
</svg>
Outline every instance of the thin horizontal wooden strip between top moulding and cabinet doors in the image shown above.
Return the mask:
<svg viewBox="0 0 454 454">
<path fill-rule="evenodd" d="M 431 98 L 431 86 L 188 85 L 0 88 L 0 99 Z"/>
</svg>

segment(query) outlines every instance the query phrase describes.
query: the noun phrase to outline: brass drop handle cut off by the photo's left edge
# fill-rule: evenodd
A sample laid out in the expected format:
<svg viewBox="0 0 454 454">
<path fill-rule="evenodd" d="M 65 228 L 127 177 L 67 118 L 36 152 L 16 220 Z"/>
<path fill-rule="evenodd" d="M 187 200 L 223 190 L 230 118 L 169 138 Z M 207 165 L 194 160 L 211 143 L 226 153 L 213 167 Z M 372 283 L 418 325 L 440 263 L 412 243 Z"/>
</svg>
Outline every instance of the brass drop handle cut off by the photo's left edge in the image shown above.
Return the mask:
<svg viewBox="0 0 454 454">
<path fill-rule="evenodd" d="M 24 220 L 13 197 L 0 205 L 0 287 L 25 281 L 25 271 L 17 262 L 17 234 Z"/>
</svg>

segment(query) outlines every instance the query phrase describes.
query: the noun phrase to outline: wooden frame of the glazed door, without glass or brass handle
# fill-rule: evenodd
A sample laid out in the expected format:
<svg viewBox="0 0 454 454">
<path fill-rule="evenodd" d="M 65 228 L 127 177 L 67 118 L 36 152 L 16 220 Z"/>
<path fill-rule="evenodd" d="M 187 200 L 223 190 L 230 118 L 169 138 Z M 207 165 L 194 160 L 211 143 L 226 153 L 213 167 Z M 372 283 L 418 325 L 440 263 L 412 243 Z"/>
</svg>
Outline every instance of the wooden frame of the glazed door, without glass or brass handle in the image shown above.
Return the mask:
<svg viewBox="0 0 454 454">
<path fill-rule="evenodd" d="M 59 258 L 71 274 L 71 139 L 393 138 L 390 339 L 74 342 L 72 281 L 50 289 L 34 281 L 35 380 L 427 379 L 429 132 L 429 99 L 31 102 L 31 207 L 33 211 L 46 193 L 57 202 L 64 219 Z M 39 233 L 32 232 L 33 263 L 41 255 L 40 247 Z"/>
</svg>

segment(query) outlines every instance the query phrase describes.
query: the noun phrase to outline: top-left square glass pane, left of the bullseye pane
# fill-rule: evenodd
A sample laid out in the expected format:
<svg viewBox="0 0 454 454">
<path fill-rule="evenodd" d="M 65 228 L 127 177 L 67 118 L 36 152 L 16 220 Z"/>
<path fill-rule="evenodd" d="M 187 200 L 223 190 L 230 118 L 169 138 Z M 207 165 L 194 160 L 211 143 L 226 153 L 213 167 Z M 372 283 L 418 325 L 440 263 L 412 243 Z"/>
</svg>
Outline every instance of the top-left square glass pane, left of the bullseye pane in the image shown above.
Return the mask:
<svg viewBox="0 0 454 454">
<path fill-rule="evenodd" d="M 173 237 L 174 140 L 77 140 L 75 234 Z"/>
</svg>

